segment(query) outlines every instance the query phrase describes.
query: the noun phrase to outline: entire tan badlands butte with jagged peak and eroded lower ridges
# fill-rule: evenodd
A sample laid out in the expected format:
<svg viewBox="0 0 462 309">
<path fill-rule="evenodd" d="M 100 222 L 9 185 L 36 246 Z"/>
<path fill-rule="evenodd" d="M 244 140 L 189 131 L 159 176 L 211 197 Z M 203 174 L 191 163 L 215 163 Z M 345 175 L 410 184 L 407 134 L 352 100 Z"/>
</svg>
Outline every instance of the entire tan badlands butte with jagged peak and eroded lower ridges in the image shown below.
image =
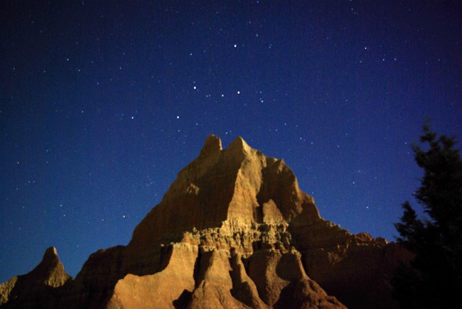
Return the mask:
<svg viewBox="0 0 462 309">
<path fill-rule="evenodd" d="M 284 161 L 208 136 L 127 246 L 76 278 L 55 248 L 0 285 L 1 308 L 395 308 L 409 253 L 323 219 Z"/>
</svg>

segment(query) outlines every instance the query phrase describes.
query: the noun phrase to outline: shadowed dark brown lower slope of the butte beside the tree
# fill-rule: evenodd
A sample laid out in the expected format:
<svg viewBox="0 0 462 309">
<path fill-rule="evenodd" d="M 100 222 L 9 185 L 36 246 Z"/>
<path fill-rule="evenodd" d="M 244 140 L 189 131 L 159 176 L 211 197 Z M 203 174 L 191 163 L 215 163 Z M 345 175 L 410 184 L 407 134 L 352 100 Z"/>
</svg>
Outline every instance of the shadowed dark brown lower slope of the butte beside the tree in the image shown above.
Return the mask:
<svg viewBox="0 0 462 309">
<path fill-rule="evenodd" d="M 409 251 L 325 220 L 291 232 L 306 273 L 328 293 L 352 308 L 398 308 L 389 280 L 401 262 L 409 261 Z"/>
</svg>

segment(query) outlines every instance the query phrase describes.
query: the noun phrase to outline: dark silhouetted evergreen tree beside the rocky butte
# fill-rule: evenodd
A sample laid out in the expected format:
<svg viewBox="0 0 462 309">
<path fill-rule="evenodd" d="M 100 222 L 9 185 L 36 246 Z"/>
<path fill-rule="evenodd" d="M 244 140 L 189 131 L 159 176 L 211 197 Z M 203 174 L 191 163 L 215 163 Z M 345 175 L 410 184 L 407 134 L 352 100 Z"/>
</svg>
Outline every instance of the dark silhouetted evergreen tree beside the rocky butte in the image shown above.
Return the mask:
<svg viewBox="0 0 462 309">
<path fill-rule="evenodd" d="M 462 293 L 462 161 L 455 139 L 438 137 L 429 125 L 420 141 L 428 149 L 413 146 L 424 169 L 414 196 L 428 217 L 419 219 L 409 202 L 402 205 L 397 241 L 414 259 L 392 278 L 393 294 L 402 308 L 451 308 Z"/>
</svg>

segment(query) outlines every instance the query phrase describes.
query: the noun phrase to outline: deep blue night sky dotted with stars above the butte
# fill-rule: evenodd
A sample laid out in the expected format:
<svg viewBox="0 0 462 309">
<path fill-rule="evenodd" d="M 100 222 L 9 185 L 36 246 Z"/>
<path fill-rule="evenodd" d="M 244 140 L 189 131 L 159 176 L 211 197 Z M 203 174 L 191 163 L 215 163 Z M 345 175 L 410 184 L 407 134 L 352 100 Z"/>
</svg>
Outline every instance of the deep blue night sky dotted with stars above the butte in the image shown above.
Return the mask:
<svg viewBox="0 0 462 309">
<path fill-rule="evenodd" d="M 127 244 L 208 134 L 284 158 L 322 217 L 393 240 L 426 116 L 462 137 L 461 16 L 461 1 L 1 1 L 0 282 L 48 246 L 75 276 Z"/>
</svg>

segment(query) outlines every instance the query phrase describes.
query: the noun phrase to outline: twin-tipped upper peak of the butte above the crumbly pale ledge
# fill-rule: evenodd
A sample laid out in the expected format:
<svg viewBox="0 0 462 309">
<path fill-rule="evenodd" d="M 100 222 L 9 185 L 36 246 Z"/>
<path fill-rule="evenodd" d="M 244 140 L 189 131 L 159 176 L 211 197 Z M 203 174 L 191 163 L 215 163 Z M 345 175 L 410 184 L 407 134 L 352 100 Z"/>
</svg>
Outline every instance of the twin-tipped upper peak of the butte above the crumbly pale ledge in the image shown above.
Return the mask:
<svg viewBox="0 0 462 309">
<path fill-rule="evenodd" d="M 288 224 L 301 215 L 307 222 L 320 218 L 284 161 L 264 156 L 241 137 L 223 150 L 220 139 L 208 136 L 199 157 L 136 227 L 129 246 L 149 246 L 166 234 L 182 237 L 194 228 L 262 224 L 273 217 Z"/>
</svg>

